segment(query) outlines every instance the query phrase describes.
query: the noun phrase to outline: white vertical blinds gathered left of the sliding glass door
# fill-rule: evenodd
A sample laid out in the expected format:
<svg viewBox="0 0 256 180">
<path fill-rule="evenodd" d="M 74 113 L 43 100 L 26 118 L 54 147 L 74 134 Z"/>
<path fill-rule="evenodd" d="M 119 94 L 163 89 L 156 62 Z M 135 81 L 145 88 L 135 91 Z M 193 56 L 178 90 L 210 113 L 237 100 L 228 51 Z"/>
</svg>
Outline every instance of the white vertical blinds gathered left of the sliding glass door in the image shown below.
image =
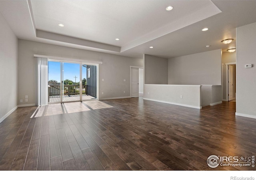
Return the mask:
<svg viewBox="0 0 256 180">
<path fill-rule="evenodd" d="M 36 105 L 48 104 L 48 58 L 36 59 Z"/>
</svg>

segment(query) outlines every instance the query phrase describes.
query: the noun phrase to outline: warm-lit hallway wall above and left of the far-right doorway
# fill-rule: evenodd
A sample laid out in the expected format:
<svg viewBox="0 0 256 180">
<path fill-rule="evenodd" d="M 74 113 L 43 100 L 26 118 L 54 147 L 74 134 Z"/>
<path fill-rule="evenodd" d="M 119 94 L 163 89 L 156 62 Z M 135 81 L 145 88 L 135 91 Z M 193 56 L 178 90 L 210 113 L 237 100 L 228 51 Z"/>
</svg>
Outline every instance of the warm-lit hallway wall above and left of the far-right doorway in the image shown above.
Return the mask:
<svg viewBox="0 0 256 180">
<path fill-rule="evenodd" d="M 222 53 L 222 90 L 223 90 L 223 100 L 228 100 L 226 97 L 226 63 L 236 62 L 236 51 Z M 236 68 L 235 68 L 236 69 Z M 233 67 L 234 70 L 234 67 Z M 235 77 L 235 76 L 234 76 Z M 235 86 L 236 87 L 236 86 Z"/>
</svg>

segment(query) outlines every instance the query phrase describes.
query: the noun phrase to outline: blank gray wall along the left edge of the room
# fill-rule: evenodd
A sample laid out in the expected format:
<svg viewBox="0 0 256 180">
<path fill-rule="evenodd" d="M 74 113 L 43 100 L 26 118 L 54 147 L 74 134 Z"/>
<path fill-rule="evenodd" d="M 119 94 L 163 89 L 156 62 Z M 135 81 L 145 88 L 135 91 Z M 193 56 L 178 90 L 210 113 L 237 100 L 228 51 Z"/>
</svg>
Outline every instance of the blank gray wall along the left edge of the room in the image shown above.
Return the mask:
<svg viewBox="0 0 256 180">
<path fill-rule="evenodd" d="M 18 39 L 0 13 L 0 122 L 17 108 Z"/>
</svg>

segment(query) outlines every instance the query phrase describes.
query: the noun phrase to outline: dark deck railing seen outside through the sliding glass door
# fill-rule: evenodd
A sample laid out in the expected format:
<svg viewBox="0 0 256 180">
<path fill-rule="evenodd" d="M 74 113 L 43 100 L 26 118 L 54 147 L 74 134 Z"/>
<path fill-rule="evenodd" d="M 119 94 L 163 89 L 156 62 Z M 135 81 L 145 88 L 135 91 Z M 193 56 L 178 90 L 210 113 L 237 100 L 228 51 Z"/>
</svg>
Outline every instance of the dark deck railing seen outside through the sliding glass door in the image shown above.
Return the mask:
<svg viewBox="0 0 256 180">
<path fill-rule="evenodd" d="M 82 85 L 82 94 L 86 94 L 86 86 Z M 49 96 L 60 96 L 60 85 L 49 85 Z M 80 85 L 64 85 L 64 95 L 78 95 L 80 94 Z"/>
</svg>

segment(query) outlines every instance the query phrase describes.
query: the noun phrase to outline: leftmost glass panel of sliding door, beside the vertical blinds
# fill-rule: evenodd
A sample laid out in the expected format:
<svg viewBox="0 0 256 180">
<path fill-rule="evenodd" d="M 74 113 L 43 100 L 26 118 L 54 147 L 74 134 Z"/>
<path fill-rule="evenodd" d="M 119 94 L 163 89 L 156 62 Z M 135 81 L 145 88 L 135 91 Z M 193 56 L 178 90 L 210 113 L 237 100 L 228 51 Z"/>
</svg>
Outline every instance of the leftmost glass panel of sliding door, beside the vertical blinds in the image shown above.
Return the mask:
<svg viewBox="0 0 256 180">
<path fill-rule="evenodd" d="M 48 102 L 61 102 L 60 62 L 48 61 Z"/>
</svg>

